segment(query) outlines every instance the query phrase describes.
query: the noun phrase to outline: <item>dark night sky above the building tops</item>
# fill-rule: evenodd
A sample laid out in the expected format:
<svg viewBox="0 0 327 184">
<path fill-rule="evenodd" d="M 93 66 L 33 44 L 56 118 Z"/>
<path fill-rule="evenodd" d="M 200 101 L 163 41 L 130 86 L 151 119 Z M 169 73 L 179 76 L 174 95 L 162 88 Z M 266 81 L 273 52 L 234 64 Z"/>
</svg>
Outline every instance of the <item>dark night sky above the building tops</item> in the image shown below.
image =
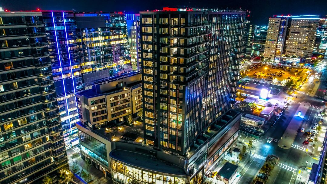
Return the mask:
<svg viewBox="0 0 327 184">
<path fill-rule="evenodd" d="M 76 10 L 78 12 L 162 9 L 163 7 L 234 8 L 251 11 L 251 24 L 267 25 L 268 18 L 277 14 L 327 15 L 327 0 L 0 0 L 0 6 L 15 10 Z"/>
</svg>

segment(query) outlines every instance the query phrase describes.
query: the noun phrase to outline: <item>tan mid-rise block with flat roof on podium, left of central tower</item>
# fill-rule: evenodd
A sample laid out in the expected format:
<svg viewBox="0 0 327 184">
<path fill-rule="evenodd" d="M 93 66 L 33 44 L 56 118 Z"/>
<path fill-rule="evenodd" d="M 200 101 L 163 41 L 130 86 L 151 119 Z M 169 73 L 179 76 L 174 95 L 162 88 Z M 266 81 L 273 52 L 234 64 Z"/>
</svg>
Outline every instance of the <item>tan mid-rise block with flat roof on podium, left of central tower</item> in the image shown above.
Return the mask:
<svg viewBox="0 0 327 184">
<path fill-rule="evenodd" d="M 141 73 L 113 75 L 85 83 L 92 89 L 76 94 L 79 119 L 91 128 L 116 125 L 142 109 Z"/>
</svg>

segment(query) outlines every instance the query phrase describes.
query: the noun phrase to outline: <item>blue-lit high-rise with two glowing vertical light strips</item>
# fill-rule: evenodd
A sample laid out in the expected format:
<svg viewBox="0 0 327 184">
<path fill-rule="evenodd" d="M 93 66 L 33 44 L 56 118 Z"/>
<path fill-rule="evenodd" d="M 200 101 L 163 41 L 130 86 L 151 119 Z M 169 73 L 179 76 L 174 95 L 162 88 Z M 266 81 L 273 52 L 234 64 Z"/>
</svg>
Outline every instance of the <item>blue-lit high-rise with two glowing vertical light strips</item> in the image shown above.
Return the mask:
<svg viewBox="0 0 327 184">
<path fill-rule="evenodd" d="M 83 90 L 73 11 L 42 11 L 66 145 L 77 137 L 75 93 Z M 54 29 L 56 27 L 56 31 Z"/>
</svg>

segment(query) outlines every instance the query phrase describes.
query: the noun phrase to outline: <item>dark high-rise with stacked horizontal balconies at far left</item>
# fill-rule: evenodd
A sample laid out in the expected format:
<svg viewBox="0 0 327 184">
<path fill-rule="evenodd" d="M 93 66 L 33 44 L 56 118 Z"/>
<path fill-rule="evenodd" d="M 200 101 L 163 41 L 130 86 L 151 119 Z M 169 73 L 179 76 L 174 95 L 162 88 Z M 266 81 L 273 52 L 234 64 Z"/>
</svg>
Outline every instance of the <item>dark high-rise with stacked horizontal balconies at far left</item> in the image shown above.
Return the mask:
<svg viewBox="0 0 327 184">
<path fill-rule="evenodd" d="M 41 12 L 0 25 L 0 183 L 31 184 L 67 162 L 46 30 Z"/>
</svg>

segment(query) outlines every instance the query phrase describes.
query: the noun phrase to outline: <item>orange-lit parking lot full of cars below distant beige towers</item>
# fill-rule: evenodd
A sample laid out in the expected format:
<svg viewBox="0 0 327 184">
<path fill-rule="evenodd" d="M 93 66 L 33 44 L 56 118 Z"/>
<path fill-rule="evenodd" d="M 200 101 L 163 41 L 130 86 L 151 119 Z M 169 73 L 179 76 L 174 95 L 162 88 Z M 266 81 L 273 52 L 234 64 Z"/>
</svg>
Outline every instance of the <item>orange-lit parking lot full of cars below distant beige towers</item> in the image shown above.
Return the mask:
<svg viewBox="0 0 327 184">
<path fill-rule="evenodd" d="M 275 66 L 275 65 L 267 65 L 267 64 L 260 64 L 252 69 L 250 71 L 247 71 L 247 76 L 254 77 L 254 78 L 260 78 L 265 80 L 273 80 L 274 78 L 277 78 L 278 81 L 282 81 L 284 79 L 290 80 L 294 78 L 300 78 L 307 75 L 308 69 L 305 68 L 295 68 L 295 67 L 289 67 L 289 66 Z"/>
</svg>

